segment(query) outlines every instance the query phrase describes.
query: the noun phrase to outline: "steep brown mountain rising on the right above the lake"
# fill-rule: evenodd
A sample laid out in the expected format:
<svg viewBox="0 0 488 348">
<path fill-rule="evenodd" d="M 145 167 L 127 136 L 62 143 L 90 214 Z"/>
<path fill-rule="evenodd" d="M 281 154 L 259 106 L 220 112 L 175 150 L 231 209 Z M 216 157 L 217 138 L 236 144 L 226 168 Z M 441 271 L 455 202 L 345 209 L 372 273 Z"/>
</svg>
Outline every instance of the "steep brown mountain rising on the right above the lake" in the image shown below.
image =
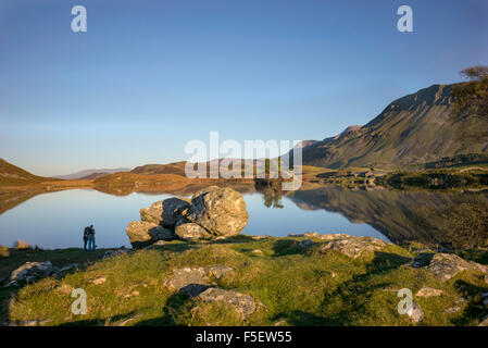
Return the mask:
<svg viewBox="0 0 488 348">
<path fill-rule="evenodd" d="M 391 102 L 364 126 L 321 141 L 308 140 L 303 164 L 391 169 L 467 153 L 488 153 L 488 127 L 477 117 L 454 117 L 451 88 L 433 85 Z"/>
</svg>

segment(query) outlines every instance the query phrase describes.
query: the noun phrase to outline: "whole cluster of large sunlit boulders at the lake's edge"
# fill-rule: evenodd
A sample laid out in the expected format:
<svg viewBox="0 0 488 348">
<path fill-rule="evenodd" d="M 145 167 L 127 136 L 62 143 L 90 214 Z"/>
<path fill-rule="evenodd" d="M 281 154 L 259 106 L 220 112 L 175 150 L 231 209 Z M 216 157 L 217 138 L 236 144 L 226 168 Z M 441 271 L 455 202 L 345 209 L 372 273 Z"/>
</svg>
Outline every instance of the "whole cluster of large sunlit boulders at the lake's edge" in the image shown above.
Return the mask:
<svg viewBox="0 0 488 348">
<path fill-rule="evenodd" d="M 242 195 L 211 186 L 187 198 L 168 198 L 140 210 L 141 221 L 126 228 L 135 248 L 160 240 L 199 240 L 229 237 L 246 227 L 249 214 Z"/>
</svg>

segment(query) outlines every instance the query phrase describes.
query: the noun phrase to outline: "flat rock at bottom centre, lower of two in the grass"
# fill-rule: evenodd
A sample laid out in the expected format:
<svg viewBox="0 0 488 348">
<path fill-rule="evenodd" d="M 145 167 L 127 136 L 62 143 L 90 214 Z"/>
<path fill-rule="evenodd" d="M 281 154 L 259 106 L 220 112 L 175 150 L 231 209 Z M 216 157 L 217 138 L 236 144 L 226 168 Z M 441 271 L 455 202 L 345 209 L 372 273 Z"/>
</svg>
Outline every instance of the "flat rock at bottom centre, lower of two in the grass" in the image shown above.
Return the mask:
<svg viewBox="0 0 488 348">
<path fill-rule="evenodd" d="M 242 321 L 251 316 L 255 311 L 254 299 L 251 296 L 234 290 L 209 288 L 200 294 L 198 299 L 205 302 L 216 302 L 229 306 L 240 314 Z"/>
</svg>

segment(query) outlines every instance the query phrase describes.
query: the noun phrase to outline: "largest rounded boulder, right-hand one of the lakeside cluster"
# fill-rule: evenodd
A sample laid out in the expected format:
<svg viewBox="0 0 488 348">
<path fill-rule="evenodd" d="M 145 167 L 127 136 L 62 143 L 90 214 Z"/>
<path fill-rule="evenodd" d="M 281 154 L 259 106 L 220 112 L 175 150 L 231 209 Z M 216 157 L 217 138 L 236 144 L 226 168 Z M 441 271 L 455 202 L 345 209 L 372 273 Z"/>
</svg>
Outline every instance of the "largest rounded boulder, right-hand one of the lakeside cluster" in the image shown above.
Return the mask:
<svg viewBox="0 0 488 348">
<path fill-rule="evenodd" d="M 229 187 L 193 195 L 184 216 L 212 235 L 226 237 L 238 235 L 249 220 L 242 195 Z"/>
</svg>

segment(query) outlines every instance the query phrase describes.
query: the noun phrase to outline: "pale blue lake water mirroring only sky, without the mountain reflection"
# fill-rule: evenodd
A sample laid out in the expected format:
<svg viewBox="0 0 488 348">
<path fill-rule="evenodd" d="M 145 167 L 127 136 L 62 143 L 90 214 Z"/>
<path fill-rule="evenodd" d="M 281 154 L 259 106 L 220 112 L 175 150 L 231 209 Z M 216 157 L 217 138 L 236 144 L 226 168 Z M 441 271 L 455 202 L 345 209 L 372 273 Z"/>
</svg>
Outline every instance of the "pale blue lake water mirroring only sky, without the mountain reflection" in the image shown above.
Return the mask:
<svg viewBox="0 0 488 348">
<path fill-rule="evenodd" d="M 0 245 L 24 239 L 45 249 L 80 247 L 84 227 L 93 224 L 99 247 L 129 247 L 125 227 L 139 220 L 139 209 L 170 197 L 138 192 L 118 197 L 92 189 L 39 195 L 0 215 Z M 250 216 L 243 234 L 286 236 L 316 231 L 388 240 L 368 224 L 325 210 L 303 210 L 288 197 L 281 198 L 283 208 L 266 208 L 258 192 L 243 197 Z"/>
</svg>

